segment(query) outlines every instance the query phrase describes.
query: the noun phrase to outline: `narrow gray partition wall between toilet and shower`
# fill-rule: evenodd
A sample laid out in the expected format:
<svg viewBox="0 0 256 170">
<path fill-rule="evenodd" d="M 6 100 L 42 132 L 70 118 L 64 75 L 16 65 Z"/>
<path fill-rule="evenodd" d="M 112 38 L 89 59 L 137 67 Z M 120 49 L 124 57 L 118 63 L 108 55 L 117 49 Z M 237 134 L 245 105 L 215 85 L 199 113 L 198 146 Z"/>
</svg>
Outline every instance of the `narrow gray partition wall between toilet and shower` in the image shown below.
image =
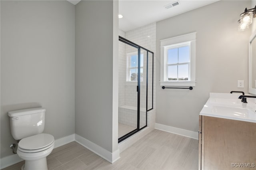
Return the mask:
<svg viewBox="0 0 256 170">
<path fill-rule="evenodd" d="M 110 152 L 112 70 L 113 1 L 81 1 L 76 5 L 76 134 Z"/>
</svg>

